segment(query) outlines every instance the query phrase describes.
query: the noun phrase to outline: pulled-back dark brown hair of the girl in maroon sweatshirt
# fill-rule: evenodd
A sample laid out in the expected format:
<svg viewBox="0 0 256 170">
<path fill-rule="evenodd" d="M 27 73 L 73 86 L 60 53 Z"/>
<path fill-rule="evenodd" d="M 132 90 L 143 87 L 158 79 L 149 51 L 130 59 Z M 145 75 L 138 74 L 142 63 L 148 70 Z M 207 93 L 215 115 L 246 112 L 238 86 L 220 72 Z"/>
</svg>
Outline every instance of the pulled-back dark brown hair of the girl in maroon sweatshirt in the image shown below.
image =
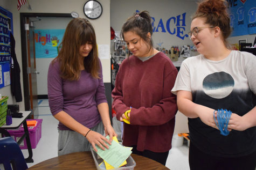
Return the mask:
<svg viewBox="0 0 256 170">
<path fill-rule="evenodd" d="M 139 35 L 147 44 L 149 51 L 153 48 L 153 40 L 147 36 L 148 33 L 153 34 L 153 28 L 151 24 L 151 17 L 148 11 L 142 11 L 140 13 L 134 13 L 134 15 L 127 19 L 122 26 L 121 36 L 123 33 L 132 31 Z"/>
</svg>

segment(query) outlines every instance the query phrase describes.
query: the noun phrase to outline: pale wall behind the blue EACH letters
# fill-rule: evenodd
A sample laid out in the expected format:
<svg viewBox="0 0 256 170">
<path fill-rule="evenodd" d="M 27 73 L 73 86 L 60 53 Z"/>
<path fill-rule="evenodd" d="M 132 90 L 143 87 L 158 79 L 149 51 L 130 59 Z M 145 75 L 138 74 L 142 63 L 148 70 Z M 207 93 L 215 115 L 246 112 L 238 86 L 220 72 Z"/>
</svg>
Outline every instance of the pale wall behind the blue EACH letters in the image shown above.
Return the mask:
<svg viewBox="0 0 256 170">
<path fill-rule="evenodd" d="M 177 0 L 111 0 L 110 2 L 110 26 L 115 31 L 121 31 L 123 23 L 127 20 L 128 17 L 132 16 L 136 10 L 143 11 L 147 10 L 150 13 L 151 17 L 155 18 L 154 26 L 157 27 L 160 19 L 162 19 L 165 31 L 167 31 L 167 20 L 170 17 L 177 17 L 178 15 L 182 15 L 186 13 L 185 16 L 185 31 L 183 31 L 182 36 L 188 34 L 190 31 L 190 16 L 195 12 L 197 7 L 196 2 L 194 1 L 177 1 Z M 182 17 L 181 17 L 182 18 Z M 180 25 L 182 22 L 179 22 Z M 170 22 L 170 30 L 174 32 L 177 26 L 174 24 L 174 20 Z M 158 29 L 159 32 L 153 33 L 153 41 L 155 47 L 157 47 L 157 43 L 163 42 L 162 47 L 170 48 L 173 45 L 192 45 L 191 40 L 188 37 L 185 37 L 184 40 L 177 37 L 177 34 L 171 35 L 170 33 L 165 32 L 162 33 L 162 29 Z"/>
</svg>

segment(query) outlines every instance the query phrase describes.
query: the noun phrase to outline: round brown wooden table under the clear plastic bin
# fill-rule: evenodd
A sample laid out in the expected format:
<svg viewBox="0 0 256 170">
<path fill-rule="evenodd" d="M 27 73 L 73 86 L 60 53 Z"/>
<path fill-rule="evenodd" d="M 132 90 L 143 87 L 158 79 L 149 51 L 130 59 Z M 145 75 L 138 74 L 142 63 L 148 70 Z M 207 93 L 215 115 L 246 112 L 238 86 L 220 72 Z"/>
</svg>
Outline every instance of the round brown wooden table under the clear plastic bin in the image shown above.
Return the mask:
<svg viewBox="0 0 256 170">
<path fill-rule="evenodd" d="M 134 169 L 169 169 L 157 161 L 132 154 L 136 162 Z M 96 169 L 91 152 L 75 152 L 47 159 L 29 169 Z"/>
</svg>

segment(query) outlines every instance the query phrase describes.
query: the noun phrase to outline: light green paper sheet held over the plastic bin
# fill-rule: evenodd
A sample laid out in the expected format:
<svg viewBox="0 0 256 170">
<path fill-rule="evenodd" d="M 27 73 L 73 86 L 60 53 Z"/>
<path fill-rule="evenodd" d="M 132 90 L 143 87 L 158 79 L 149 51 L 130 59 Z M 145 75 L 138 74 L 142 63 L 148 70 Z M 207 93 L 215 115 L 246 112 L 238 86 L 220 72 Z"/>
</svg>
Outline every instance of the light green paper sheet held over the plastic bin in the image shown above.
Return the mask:
<svg viewBox="0 0 256 170">
<path fill-rule="evenodd" d="M 106 138 L 109 139 L 109 136 Z M 109 145 L 108 143 L 106 144 L 109 146 L 109 149 L 105 148 L 105 151 L 100 149 L 98 145 L 95 145 L 98 150 L 96 153 L 115 168 L 118 168 L 132 153 L 129 148 L 124 147 L 115 141 L 112 141 L 112 145 Z"/>
</svg>

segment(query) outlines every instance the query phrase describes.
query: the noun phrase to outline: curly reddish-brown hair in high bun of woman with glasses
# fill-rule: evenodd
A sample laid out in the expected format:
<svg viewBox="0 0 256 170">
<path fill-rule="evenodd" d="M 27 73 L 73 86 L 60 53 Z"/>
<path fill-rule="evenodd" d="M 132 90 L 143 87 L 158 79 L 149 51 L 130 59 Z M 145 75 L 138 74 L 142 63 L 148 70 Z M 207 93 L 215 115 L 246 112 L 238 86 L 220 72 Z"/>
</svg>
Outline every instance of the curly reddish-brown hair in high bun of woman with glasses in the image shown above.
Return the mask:
<svg viewBox="0 0 256 170">
<path fill-rule="evenodd" d="M 226 47 L 229 47 L 229 43 L 226 39 L 232 32 L 230 27 L 230 17 L 229 12 L 227 11 L 227 2 L 225 0 L 204 0 L 198 4 L 198 9 L 195 13 L 195 16 L 192 17 L 192 20 L 195 18 L 204 18 L 205 24 L 211 26 L 218 26 L 222 31 L 223 41 Z"/>
</svg>

